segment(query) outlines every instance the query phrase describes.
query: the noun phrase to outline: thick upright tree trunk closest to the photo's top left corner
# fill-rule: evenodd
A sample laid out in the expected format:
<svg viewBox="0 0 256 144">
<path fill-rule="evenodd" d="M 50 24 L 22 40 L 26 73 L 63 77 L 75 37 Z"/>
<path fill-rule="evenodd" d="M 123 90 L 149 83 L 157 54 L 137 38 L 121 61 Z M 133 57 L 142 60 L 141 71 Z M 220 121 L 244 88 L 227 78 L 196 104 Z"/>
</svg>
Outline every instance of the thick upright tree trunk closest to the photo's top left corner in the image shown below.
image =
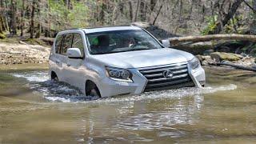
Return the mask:
<svg viewBox="0 0 256 144">
<path fill-rule="evenodd" d="M 16 12 L 17 12 L 17 2 L 16 0 L 11 0 L 11 6 L 10 6 L 10 11 L 11 11 L 11 18 L 10 18 L 10 34 L 17 34 L 17 17 L 16 17 Z"/>
</svg>

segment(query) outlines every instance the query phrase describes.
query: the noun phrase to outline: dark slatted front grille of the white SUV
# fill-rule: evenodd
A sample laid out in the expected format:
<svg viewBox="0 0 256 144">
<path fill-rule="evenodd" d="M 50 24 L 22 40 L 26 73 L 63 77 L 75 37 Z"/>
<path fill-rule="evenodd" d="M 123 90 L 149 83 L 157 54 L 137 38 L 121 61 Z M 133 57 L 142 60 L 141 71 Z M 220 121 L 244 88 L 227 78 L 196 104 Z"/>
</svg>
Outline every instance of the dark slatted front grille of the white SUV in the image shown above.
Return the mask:
<svg viewBox="0 0 256 144">
<path fill-rule="evenodd" d="M 172 78 L 166 78 L 164 76 L 166 70 L 172 72 Z M 194 86 L 194 82 L 188 73 L 186 63 L 145 68 L 139 71 L 148 80 L 144 91 L 178 89 L 181 87 Z"/>
</svg>

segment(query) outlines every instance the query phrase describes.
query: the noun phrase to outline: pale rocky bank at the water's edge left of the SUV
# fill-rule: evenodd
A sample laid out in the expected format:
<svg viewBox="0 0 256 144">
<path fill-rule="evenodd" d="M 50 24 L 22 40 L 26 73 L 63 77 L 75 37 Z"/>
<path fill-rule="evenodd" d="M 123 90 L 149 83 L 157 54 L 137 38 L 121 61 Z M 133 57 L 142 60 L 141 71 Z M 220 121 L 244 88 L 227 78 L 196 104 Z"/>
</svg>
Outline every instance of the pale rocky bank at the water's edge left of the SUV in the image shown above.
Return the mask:
<svg viewBox="0 0 256 144">
<path fill-rule="evenodd" d="M 0 65 L 47 63 L 50 47 L 0 42 Z"/>
</svg>

